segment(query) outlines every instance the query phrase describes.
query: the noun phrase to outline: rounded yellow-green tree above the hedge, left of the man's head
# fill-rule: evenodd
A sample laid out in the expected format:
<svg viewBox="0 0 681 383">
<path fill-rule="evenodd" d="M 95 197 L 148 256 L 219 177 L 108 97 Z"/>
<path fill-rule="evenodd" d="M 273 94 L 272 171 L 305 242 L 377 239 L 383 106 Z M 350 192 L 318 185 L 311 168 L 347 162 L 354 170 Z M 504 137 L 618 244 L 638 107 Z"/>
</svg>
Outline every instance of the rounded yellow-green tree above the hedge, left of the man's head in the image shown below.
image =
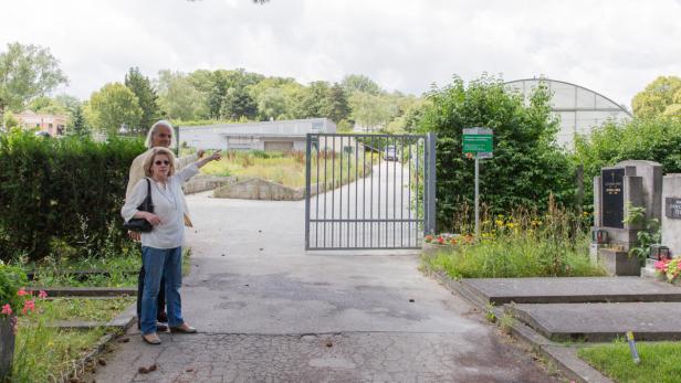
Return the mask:
<svg viewBox="0 0 681 383">
<path fill-rule="evenodd" d="M 125 124 L 128 128 L 138 128 L 143 110 L 133 91 L 121 83 L 104 85 L 92 94 L 88 105 L 93 125 L 108 135 L 116 135 Z"/>
</svg>

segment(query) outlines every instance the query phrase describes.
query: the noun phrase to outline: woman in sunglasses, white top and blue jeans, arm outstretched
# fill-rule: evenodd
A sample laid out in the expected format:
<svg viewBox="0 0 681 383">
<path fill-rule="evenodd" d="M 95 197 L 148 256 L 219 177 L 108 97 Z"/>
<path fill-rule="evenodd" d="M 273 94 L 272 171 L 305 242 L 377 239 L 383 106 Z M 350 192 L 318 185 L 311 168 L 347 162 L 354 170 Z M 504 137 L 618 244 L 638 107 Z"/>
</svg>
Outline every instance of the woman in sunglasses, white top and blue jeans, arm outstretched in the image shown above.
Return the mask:
<svg viewBox="0 0 681 383">
<path fill-rule="evenodd" d="M 161 276 L 166 279 L 166 305 L 171 332 L 193 333 L 196 329 L 182 319 L 180 286 L 182 284 L 182 244 L 185 242 L 185 204 L 181 185 L 199 172 L 209 161 L 219 160 L 218 152 L 185 167 L 176 173 L 172 152 L 166 148 L 153 148 L 144 161 L 146 178 L 137 182 L 121 215 L 147 220 L 154 230 L 142 233 L 142 256 L 145 269 L 142 298 L 142 338 L 149 344 L 160 344 L 156 333 L 157 298 Z M 137 210 L 147 196 L 147 180 L 150 182 L 154 213 Z"/>
</svg>

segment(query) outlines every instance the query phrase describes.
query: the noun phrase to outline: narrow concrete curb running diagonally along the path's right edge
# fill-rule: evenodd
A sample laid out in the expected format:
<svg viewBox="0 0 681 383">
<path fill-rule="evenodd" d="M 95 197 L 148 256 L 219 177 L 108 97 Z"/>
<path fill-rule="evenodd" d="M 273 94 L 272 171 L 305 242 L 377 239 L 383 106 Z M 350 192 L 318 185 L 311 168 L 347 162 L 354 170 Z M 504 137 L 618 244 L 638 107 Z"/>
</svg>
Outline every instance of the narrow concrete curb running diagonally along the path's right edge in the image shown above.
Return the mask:
<svg viewBox="0 0 681 383">
<path fill-rule="evenodd" d="M 457 294 L 468 300 L 482 312 L 488 309 L 488 302 L 481 299 L 478 294 L 470 291 L 465 286 L 463 286 L 462 283 L 452 280 L 442 272 L 437 272 L 429 268 L 426 268 L 425 272 L 426 274 L 434 277 L 452 294 Z M 501 307 L 494 307 L 492 310 L 496 318 L 501 318 L 504 315 Z M 570 380 L 586 383 L 612 383 L 610 379 L 606 377 L 599 371 L 579 359 L 576 354 L 577 348 L 565 347 L 559 343 L 552 342 L 520 321 L 514 321 L 511 326 L 511 333 L 520 341 L 528 344 L 534 350 L 541 352 L 544 357 L 553 361 L 558 366 L 560 372 Z"/>
</svg>

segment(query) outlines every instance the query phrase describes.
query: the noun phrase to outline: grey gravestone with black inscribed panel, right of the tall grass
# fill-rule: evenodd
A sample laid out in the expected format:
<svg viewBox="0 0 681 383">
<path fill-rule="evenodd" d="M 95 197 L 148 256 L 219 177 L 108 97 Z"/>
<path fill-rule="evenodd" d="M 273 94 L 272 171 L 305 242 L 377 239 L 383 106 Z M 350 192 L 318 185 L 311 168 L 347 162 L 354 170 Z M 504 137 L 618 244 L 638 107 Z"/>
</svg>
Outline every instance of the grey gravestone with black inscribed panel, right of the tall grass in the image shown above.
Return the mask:
<svg viewBox="0 0 681 383">
<path fill-rule="evenodd" d="M 645 222 L 625 222 L 627 206 L 645 208 L 646 220 L 661 217 L 662 166 L 627 160 L 603 168 L 594 178 L 594 231 L 605 232 L 607 243 L 591 245 L 591 258 L 611 275 L 638 275 L 638 259 L 629 256 Z M 603 235 L 595 235 L 603 237 Z"/>
</svg>

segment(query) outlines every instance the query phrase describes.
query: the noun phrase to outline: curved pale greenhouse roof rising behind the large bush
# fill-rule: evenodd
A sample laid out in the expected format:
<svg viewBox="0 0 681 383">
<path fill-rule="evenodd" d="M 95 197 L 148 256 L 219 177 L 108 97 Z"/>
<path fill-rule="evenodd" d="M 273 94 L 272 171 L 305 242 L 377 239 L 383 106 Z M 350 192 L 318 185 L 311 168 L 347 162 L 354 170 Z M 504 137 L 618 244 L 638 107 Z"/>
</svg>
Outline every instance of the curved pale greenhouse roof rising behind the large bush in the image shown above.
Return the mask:
<svg viewBox="0 0 681 383">
<path fill-rule="evenodd" d="M 594 127 L 607 120 L 628 120 L 631 114 L 610 98 L 584 86 L 549 79 L 526 78 L 504 84 L 509 91 L 520 92 L 525 99 L 544 83 L 553 94 L 551 106 L 560 118 L 560 130 L 556 140 L 569 149 L 574 148 L 574 137 L 588 135 Z"/>
</svg>

